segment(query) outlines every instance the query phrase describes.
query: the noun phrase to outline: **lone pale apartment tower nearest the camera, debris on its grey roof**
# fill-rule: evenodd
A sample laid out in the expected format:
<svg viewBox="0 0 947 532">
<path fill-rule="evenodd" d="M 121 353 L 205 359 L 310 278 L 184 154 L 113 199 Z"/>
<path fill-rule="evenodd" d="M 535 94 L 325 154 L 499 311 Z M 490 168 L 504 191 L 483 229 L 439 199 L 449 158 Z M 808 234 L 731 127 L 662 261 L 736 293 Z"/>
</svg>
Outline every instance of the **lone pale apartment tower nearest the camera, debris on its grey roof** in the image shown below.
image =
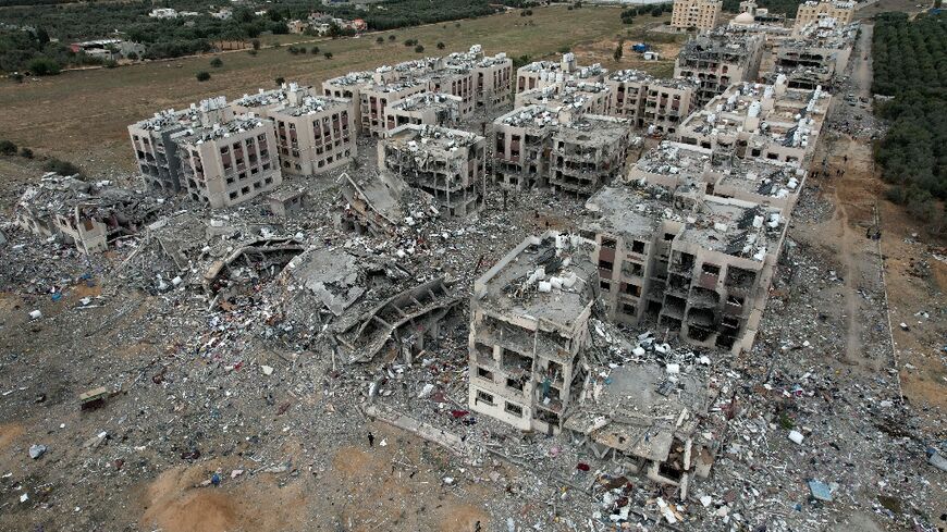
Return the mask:
<svg viewBox="0 0 947 532">
<path fill-rule="evenodd" d="M 557 433 L 587 378 L 595 301 L 590 243 L 546 232 L 474 284 L 468 406 L 522 431 Z"/>
</svg>

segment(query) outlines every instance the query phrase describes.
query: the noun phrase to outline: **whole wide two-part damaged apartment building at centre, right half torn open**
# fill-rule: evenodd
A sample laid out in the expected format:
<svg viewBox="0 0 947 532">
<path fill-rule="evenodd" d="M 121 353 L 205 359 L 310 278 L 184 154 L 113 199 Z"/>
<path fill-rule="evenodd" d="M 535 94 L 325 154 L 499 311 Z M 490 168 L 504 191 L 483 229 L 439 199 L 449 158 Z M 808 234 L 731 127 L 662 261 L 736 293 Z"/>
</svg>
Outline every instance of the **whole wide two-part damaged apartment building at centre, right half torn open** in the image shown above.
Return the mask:
<svg viewBox="0 0 947 532">
<path fill-rule="evenodd" d="M 628 148 L 640 140 L 625 119 L 527 106 L 493 123 L 493 180 L 505 189 L 550 186 L 589 196 L 625 173 Z"/>
</svg>

